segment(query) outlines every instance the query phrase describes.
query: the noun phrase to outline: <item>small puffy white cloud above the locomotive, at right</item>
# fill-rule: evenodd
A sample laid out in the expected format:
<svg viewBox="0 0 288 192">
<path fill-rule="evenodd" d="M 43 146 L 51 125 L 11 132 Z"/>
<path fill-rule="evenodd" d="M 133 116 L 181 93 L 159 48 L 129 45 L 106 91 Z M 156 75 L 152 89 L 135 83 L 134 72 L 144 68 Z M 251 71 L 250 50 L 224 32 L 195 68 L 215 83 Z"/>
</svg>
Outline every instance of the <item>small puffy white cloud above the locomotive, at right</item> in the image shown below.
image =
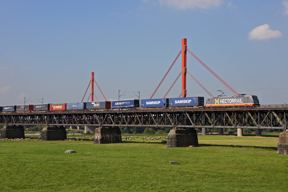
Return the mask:
<svg viewBox="0 0 288 192">
<path fill-rule="evenodd" d="M 273 31 L 272 29 L 270 29 L 270 26 L 268 24 L 260 25 L 250 31 L 250 33 L 248 34 L 248 39 L 250 40 L 265 40 L 277 37 L 282 37 L 282 33 L 278 30 Z"/>
</svg>

